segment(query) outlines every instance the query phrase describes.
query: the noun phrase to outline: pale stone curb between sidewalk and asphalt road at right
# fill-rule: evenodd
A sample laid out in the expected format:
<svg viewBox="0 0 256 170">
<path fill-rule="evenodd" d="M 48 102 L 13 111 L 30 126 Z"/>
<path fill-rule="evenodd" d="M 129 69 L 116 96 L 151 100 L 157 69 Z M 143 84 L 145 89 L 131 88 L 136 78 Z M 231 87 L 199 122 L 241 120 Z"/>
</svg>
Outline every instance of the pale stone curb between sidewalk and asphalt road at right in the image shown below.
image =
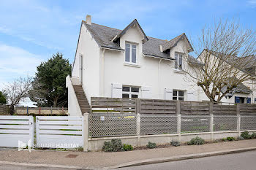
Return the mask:
<svg viewBox="0 0 256 170">
<path fill-rule="evenodd" d="M 109 166 L 108 169 L 118 169 L 118 168 L 124 168 L 124 167 L 128 167 L 128 166 L 141 166 L 141 165 L 148 165 L 148 164 L 153 164 L 153 163 L 181 161 L 181 160 L 187 160 L 187 159 L 203 158 L 203 157 L 210 157 L 210 156 L 216 156 L 216 155 L 226 155 L 226 154 L 246 152 L 246 151 L 252 151 L 252 150 L 256 150 L 256 147 L 245 147 L 242 149 L 234 149 L 234 150 L 224 150 L 224 151 L 217 151 L 217 152 L 203 152 L 203 153 L 189 154 L 189 155 L 178 155 L 178 156 L 171 156 L 171 157 L 165 157 L 165 158 L 152 158 L 152 159 L 146 159 L 146 160 L 142 160 L 142 161 L 132 161 L 129 163 L 123 163 L 118 166 Z"/>
</svg>

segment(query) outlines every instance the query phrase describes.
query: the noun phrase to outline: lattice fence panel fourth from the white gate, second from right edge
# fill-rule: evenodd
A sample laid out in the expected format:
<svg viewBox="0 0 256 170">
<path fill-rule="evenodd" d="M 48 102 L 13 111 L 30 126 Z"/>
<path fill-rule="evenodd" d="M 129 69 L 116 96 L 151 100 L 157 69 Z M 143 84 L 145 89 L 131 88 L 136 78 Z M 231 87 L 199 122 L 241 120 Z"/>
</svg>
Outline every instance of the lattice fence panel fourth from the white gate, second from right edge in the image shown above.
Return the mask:
<svg viewBox="0 0 256 170">
<path fill-rule="evenodd" d="M 237 116 L 214 115 L 214 131 L 236 131 Z"/>
</svg>

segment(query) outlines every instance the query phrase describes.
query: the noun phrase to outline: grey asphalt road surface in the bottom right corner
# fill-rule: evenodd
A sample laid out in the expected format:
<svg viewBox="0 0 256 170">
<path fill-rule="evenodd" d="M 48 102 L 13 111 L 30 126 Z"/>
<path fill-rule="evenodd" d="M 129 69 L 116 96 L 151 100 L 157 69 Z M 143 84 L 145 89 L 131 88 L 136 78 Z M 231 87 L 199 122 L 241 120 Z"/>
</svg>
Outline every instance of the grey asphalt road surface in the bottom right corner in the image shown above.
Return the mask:
<svg viewBox="0 0 256 170">
<path fill-rule="evenodd" d="M 156 163 L 145 166 L 133 166 L 119 170 L 255 170 L 256 151 L 241 152 L 230 155 L 219 155 L 206 158 L 197 158 L 184 161 L 173 161 L 166 163 Z"/>
</svg>

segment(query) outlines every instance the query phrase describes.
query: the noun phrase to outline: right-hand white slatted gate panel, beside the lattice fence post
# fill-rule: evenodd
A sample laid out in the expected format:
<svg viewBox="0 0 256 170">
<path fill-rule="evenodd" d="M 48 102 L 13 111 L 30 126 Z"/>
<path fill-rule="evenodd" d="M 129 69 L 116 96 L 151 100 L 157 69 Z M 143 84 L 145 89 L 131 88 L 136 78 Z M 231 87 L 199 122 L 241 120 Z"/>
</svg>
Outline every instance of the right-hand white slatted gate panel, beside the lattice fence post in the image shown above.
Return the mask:
<svg viewBox="0 0 256 170">
<path fill-rule="evenodd" d="M 37 116 L 37 147 L 83 147 L 83 117 Z"/>
</svg>

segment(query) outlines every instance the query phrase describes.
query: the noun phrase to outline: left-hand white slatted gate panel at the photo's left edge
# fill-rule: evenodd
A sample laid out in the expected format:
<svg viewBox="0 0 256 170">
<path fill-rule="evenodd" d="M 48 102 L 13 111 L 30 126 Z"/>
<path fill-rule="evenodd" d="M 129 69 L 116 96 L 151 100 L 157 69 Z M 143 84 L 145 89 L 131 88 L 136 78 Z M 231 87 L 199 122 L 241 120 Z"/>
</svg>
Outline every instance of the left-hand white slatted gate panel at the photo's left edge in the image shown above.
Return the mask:
<svg viewBox="0 0 256 170">
<path fill-rule="evenodd" d="M 21 142 L 34 145 L 33 117 L 0 116 L 0 147 L 18 147 Z"/>
</svg>

